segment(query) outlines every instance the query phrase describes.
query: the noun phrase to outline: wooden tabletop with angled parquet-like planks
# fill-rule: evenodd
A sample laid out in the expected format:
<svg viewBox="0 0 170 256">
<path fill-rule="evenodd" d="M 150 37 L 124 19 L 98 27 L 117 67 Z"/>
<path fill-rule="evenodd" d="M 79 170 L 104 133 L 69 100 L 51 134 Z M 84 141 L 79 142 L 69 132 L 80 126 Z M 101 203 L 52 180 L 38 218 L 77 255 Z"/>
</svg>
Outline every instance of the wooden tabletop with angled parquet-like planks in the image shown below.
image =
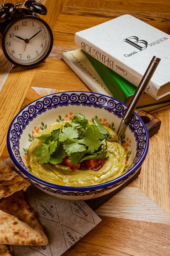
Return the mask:
<svg viewBox="0 0 170 256">
<path fill-rule="evenodd" d="M 9 157 L 7 130 L 22 106 L 53 92 L 89 91 L 61 59 L 62 52 L 77 48 L 76 31 L 131 14 L 170 34 L 169 0 L 42 0 L 42 3 L 48 9 L 42 18 L 54 35 L 53 50 L 46 62 L 32 69 L 11 69 L 0 50 L 1 159 Z M 102 221 L 64 256 L 170 255 L 170 108 L 153 115 L 161 120 L 161 128 L 150 138 L 140 175 L 95 210 Z"/>
</svg>

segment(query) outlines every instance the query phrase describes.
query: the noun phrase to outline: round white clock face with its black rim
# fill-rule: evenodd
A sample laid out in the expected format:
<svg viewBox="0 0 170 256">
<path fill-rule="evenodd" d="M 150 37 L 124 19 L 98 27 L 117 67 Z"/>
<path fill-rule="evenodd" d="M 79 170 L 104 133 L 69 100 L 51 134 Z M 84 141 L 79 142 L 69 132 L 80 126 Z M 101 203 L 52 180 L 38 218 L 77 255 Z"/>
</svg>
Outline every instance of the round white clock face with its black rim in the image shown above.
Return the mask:
<svg viewBox="0 0 170 256">
<path fill-rule="evenodd" d="M 6 58 L 22 67 L 41 63 L 49 56 L 52 47 L 52 31 L 37 16 L 24 16 L 13 21 L 2 38 L 2 50 Z"/>
</svg>

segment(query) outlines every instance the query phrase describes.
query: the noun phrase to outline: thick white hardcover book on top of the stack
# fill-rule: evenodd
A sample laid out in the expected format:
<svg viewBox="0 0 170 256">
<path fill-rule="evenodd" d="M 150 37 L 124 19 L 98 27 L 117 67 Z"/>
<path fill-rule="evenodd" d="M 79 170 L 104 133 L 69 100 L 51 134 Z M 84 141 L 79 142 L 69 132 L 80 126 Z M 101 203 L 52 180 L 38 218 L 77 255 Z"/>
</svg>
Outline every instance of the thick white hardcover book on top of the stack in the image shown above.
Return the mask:
<svg viewBox="0 0 170 256">
<path fill-rule="evenodd" d="M 75 33 L 78 47 L 138 86 L 153 56 L 161 58 L 146 88 L 154 99 L 170 93 L 170 35 L 122 15 Z"/>
</svg>

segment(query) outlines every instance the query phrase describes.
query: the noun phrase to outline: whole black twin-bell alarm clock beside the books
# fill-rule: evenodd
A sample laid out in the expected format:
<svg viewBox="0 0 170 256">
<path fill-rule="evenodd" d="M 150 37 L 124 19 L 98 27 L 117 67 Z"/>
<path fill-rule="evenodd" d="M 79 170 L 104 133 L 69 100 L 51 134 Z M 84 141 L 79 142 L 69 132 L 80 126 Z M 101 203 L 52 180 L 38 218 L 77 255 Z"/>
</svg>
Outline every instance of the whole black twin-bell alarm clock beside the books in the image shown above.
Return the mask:
<svg viewBox="0 0 170 256">
<path fill-rule="evenodd" d="M 53 47 L 53 33 L 38 14 L 46 15 L 40 0 L 28 0 L 20 8 L 5 3 L 0 6 L 0 48 L 14 65 L 33 67 L 42 63 Z"/>
</svg>

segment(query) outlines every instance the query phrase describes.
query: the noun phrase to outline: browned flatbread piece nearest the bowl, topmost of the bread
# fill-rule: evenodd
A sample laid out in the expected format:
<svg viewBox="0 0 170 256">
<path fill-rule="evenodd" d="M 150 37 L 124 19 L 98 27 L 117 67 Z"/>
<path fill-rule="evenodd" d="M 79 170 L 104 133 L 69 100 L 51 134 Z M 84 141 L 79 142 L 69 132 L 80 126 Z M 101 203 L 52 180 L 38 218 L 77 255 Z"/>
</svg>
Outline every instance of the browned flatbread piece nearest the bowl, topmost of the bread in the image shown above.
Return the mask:
<svg viewBox="0 0 170 256">
<path fill-rule="evenodd" d="M 7 197 L 15 191 L 24 190 L 31 184 L 18 173 L 13 171 L 11 167 L 0 160 L 0 198 Z"/>
</svg>

